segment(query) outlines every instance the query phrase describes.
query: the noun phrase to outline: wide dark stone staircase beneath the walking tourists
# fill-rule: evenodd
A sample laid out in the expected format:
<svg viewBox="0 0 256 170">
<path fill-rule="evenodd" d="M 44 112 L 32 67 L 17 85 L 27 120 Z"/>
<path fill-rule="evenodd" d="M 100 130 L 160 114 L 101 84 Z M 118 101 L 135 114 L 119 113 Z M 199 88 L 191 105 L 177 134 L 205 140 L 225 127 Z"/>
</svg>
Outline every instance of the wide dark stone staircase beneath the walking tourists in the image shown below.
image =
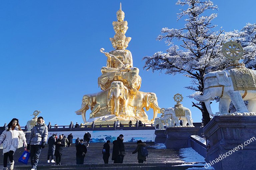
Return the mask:
<svg viewBox="0 0 256 170">
<path fill-rule="evenodd" d="M 180 155 L 179 150 L 166 149 L 164 144 L 155 144 L 154 142 L 147 142 L 149 156 L 145 163 L 139 164 L 137 163 L 137 153 L 132 154 L 136 146 L 136 143 L 125 143 L 126 155 L 123 164 L 113 164 L 113 161 L 111 160 L 113 144 L 111 143 L 109 164 L 104 164 L 102 159 L 103 143 L 90 143 L 87 148 L 88 150 L 85 156 L 84 165 L 76 165 L 76 147 L 72 144 L 71 147 L 64 148 L 61 160 L 62 165 L 55 165 L 54 163 L 47 163 L 48 145 L 46 145 L 41 151 L 37 169 L 115 170 L 121 168 L 122 170 L 185 170 L 194 167 L 194 170 L 197 170 L 201 169 L 205 164 L 202 160 L 196 163 L 194 161 L 186 162 L 183 159 L 184 156 Z M 28 162 L 28 165 L 23 165 L 18 162 L 23 151 L 24 148 L 19 148 L 14 154 L 14 169 L 16 170 L 31 169 L 30 161 Z M 0 152 L 2 153 L 2 149 L 0 149 Z M 0 156 L 0 168 L 2 168 L 2 162 L 3 156 Z M 186 163 L 186 166 L 182 165 L 184 163 Z"/>
</svg>

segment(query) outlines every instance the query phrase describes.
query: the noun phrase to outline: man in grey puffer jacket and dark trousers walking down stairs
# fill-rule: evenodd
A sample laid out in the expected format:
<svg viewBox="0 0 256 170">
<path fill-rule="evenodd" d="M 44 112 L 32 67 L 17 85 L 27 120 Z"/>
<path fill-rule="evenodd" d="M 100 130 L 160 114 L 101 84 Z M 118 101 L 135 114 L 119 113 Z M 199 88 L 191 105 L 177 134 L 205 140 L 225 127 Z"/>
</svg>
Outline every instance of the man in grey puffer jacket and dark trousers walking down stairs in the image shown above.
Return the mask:
<svg viewBox="0 0 256 170">
<path fill-rule="evenodd" d="M 43 121 L 43 117 L 40 116 L 37 118 L 37 125 L 31 129 L 28 139 L 27 150 L 30 150 L 31 170 L 36 169 L 41 149 L 45 147 L 48 138 L 48 128 Z"/>
</svg>

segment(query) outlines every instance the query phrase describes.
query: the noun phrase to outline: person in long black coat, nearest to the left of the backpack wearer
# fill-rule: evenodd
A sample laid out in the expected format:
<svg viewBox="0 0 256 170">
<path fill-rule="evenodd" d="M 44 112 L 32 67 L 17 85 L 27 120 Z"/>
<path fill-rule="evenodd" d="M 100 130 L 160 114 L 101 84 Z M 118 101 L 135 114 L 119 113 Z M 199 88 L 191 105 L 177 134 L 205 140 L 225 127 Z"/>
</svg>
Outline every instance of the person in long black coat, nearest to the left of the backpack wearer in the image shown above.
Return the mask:
<svg viewBox="0 0 256 170">
<path fill-rule="evenodd" d="M 116 140 L 113 141 L 112 160 L 114 163 L 123 163 L 125 150 L 124 150 L 124 135 L 120 134 Z"/>
</svg>

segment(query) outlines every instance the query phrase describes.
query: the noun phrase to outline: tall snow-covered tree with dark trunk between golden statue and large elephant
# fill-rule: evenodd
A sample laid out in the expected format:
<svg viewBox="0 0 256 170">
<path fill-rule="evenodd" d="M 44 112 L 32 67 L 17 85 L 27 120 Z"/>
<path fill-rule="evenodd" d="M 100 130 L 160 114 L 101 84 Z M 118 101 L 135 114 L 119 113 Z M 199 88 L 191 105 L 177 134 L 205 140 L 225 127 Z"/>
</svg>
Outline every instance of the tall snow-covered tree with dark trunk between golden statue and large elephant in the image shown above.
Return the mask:
<svg viewBox="0 0 256 170">
<path fill-rule="evenodd" d="M 217 31 L 216 25 L 211 22 L 217 17 L 213 13 L 203 15 L 207 10 L 217 10 L 209 0 L 178 0 L 177 5 L 188 6 L 177 14 L 178 20 L 185 18 L 185 26 L 180 29 L 163 28 L 157 40 L 165 40 L 170 46 L 167 52 L 156 52 L 152 56 L 145 56 L 144 69 L 152 71 L 164 71 L 165 74 L 182 74 L 191 78 L 190 86 L 185 88 L 195 91 L 190 98 L 201 95 L 204 89 L 204 75 L 211 71 L 222 70 L 228 64 L 228 59 L 221 52 L 221 46 L 230 39 L 232 34 L 223 34 L 223 30 Z M 173 40 L 180 42 L 178 45 Z M 210 121 L 209 113 L 203 102 L 194 103 L 202 112 L 202 123 L 205 126 Z"/>
</svg>

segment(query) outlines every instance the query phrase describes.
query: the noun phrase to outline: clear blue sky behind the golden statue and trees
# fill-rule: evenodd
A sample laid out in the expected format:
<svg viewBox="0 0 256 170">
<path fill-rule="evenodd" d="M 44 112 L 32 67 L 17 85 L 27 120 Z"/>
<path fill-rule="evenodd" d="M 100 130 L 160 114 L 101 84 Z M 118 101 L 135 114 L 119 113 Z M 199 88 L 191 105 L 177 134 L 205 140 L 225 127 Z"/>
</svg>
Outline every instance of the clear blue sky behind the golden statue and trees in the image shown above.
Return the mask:
<svg viewBox="0 0 256 170">
<path fill-rule="evenodd" d="M 184 86 L 189 79 L 143 70 L 143 56 L 165 51 L 164 41 L 156 41 L 163 27 L 182 28 L 177 20 L 180 6 L 174 0 L 121 1 L 133 65 L 140 69 L 140 91 L 157 94 L 159 107 L 176 104 L 173 95 L 184 97 L 183 106 L 191 109 L 194 122 L 201 122 L 201 112 L 186 98 L 192 91 Z M 120 1 L 9 1 L 0 2 L 0 126 L 16 117 L 21 126 L 40 110 L 46 123 L 69 125 L 82 123 L 75 114 L 84 94 L 100 91 L 97 78 L 106 57 L 100 48 L 112 50 L 112 21 Z M 214 1 L 219 11 L 213 24 L 217 30 L 240 30 L 255 23 L 255 2 Z M 217 105 L 213 111 L 217 112 Z M 152 111 L 148 112 L 152 119 Z M 89 111 L 87 113 L 87 119 Z"/>
</svg>

